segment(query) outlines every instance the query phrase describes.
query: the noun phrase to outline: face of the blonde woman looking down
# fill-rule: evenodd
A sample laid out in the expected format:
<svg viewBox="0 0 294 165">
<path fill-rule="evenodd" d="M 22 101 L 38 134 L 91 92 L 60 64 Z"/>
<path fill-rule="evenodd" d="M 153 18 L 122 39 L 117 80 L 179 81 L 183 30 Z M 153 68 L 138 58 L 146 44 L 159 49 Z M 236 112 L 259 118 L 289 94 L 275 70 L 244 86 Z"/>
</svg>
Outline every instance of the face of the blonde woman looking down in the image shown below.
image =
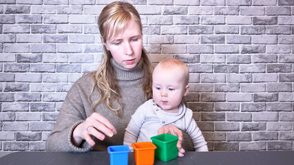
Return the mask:
<svg viewBox="0 0 294 165">
<path fill-rule="evenodd" d="M 143 36 L 140 26 L 131 20 L 120 34 L 107 39 L 103 44 L 118 65 L 132 69 L 138 64 L 142 54 Z"/>
</svg>

